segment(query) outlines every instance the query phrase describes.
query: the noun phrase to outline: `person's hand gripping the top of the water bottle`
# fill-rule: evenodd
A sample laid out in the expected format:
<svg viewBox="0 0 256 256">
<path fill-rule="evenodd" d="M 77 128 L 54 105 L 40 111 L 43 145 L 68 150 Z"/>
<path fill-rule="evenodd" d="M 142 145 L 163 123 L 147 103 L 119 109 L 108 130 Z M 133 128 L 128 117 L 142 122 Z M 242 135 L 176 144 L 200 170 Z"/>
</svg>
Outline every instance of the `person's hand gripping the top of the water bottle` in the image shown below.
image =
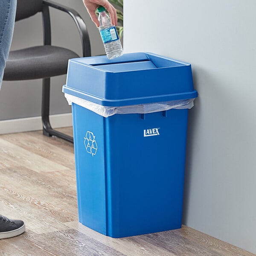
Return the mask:
<svg viewBox="0 0 256 256">
<path fill-rule="evenodd" d="M 108 0 L 83 0 L 84 6 L 87 9 L 91 19 L 97 27 L 99 27 L 99 20 L 95 14 L 98 6 L 103 6 L 110 14 L 111 24 L 117 26 L 117 15 L 115 7 L 108 2 Z"/>
</svg>

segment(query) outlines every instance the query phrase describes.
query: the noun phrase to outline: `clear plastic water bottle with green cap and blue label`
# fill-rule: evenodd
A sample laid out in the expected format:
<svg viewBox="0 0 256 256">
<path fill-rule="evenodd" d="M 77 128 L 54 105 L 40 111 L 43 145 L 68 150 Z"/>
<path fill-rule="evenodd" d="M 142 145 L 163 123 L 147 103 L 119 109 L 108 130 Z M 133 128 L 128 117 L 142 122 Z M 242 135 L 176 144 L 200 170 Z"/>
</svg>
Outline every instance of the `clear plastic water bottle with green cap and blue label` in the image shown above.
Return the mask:
<svg viewBox="0 0 256 256">
<path fill-rule="evenodd" d="M 116 27 L 111 25 L 110 17 L 106 14 L 106 9 L 103 6 L 97 8 L 97 11 L 99 12 L 99 32 L 107 57 L 113 59 L 122 56 L 123 49 L 116 32 Z"/>
</svg>

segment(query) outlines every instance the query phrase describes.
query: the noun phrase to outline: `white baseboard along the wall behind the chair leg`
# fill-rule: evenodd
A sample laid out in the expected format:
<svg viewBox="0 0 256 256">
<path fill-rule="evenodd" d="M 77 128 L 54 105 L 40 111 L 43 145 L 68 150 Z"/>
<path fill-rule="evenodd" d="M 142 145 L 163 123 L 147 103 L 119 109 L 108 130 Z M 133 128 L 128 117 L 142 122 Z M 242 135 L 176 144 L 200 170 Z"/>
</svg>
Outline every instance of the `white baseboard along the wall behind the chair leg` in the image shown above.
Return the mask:
<svg viewBox="0 0 256 256">
<path fill-rule="evenodd" d="M 49 116 L 52 128 L 72 126 L 72 113 Z M 42 130 L 41 116 L 0 121 L 0 134 Z"/>
</svg>

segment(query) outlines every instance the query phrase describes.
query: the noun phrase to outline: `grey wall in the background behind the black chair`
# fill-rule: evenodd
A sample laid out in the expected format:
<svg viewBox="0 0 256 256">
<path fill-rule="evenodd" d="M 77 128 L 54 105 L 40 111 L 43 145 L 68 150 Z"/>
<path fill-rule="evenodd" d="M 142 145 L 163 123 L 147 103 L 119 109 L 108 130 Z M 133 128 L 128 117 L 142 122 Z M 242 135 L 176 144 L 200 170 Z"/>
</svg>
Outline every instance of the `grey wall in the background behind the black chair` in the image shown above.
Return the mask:
<svg viewBox="0 0 256 256">
<path fill-rule="evenodd" d="M 87 24 L 92 55 L 105 53 L 99 30 L 90 20 L 82 0 L 54 0 L 56 3 L 75 9 Z M 82 55 L 79 32 L 70 15 L 50 8 L 52 22 L 52 45 L 67 47 Z M 42 18 L 38 13 L 29 19 L 15 23 L 11 50 L 41 45 L 43 43 Z M 50 114 L 67 113 L 70 106 L 61 92 L 66 75 L 52 78 Z M 0 92 L 0 120 L 41 116 L 42 80 L 3 81 Z M 27 121 L 26 121 L 27 122 Z"/>
</svg>

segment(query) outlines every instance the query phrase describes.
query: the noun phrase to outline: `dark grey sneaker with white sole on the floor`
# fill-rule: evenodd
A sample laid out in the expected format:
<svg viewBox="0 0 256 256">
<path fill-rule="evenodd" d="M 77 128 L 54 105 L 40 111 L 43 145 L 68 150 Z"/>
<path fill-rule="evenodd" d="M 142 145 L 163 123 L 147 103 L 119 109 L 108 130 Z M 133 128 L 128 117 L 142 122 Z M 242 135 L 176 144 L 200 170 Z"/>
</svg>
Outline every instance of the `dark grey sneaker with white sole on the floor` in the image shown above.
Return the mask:
<svg viewBox="0 0 256 256">
<path fill-rule="evenodd" d="M 10 220 L 0 215 L 0 239 L 18 236 L 25 231 L 25 224 L 20 220 Z"/>
</svg>

